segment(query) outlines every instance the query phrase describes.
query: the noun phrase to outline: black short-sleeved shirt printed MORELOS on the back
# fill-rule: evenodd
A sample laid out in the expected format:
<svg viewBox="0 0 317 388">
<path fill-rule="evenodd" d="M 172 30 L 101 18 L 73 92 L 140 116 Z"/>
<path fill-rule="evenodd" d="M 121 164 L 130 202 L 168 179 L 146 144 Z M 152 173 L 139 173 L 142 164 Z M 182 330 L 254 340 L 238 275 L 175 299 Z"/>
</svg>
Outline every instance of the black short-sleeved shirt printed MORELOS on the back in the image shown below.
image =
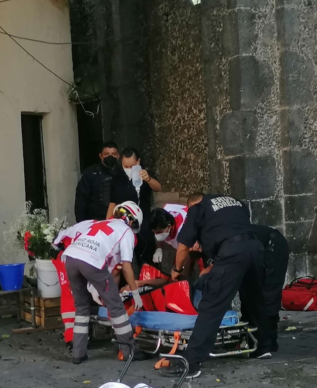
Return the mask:
<svg viewBox="0 0 317 388">
<path fill-rule="evenodd" d="M 212 257 L 222 241 L 252 232 L 246 204 L 229 196 L 207 194 L 189 208 L 177 241 L 187 247 L 199 241 L 203 252 Z"/>
</svg>

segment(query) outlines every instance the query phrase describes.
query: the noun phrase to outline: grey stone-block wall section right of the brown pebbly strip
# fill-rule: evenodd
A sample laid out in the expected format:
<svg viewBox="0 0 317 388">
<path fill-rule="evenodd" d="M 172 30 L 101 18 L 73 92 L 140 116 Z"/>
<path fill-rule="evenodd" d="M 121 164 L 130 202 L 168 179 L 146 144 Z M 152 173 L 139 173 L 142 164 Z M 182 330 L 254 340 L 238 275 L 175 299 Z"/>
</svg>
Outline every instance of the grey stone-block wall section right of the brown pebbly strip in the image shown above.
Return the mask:
<svg viewBox="0 0 317 388">
<path fill-rule="evenodd" d="M 202 1 L 211 189 L 250 201 L 254 222 L 286 234 L 290 277 L 315 267 L 316 6 Z"/>
</svg>

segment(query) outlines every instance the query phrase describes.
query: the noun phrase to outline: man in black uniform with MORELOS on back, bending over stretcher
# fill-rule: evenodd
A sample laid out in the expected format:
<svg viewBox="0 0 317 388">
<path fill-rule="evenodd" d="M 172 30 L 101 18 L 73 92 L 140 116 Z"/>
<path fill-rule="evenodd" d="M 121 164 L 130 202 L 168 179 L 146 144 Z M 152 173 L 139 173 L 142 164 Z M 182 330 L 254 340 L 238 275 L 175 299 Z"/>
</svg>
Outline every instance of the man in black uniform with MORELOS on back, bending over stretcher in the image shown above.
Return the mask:
<svg viewBox="0 0 317 388">
<path fill-rule="evenodd" d="M 229 196 L 208 194 L 188 210 L 186 222 L 178 235 L 175 280 L 191 246 L 198 241 L 203 251 L 214 257 L 213 267 L 206 275 L 198 318 L 184 357 L 190 370 L 188 378 L 201 374 L 200 363 L 205 361 L 216 340 L 225 312 L 239 291 L 245 318 L 258 328 L 259 358 L 270 358 L 269 321 L 263 295 L 264 247 L 257 239 L 250 223 L 247 206 Z M 166 376 L 183 373 L 179 364 L 171 366 Z"/>
</svg>

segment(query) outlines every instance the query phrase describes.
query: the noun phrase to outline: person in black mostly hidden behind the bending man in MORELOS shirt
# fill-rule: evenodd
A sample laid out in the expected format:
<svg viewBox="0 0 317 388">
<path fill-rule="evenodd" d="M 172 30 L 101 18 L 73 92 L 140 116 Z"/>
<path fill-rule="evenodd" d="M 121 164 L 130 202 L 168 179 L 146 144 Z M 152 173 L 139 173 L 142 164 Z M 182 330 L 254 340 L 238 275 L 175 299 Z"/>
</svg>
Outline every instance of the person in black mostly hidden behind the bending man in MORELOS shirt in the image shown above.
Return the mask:
<svg viewBox="0 0 317 388">
<path fill-rule="evenodd" d="M 281 309 L 282 289 L 288 266 L 289 249 L 286 238 L 269 226 L 252 225 L 252 230 L 262 242 L 264 252 L 264 299 L 270 321 L 271 351 L 278 350 L 277 327 Z M 242 316 L 244 315 L 241 306 Z"/>
</svg>

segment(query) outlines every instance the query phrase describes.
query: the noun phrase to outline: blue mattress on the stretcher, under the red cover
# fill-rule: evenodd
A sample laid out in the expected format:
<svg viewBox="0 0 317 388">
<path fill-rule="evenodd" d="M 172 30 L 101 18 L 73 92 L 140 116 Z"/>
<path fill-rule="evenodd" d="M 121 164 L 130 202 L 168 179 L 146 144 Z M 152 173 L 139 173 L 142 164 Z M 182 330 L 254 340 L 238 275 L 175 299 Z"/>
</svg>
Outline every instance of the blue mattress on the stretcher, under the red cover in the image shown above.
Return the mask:
<svg viewBox="0 0 317 388">
<path fill-rule="evenodd" d="M 106 307 L 99 308 L 99 316 L 107 318 Z M 185 315 L 160 311 L 136 311 L 130 316 L 131 325 L 147 329 L 183 331 L 194 329 L 197 315 Z M 236 311 L 227 311 L 220 326 L 233 326 L 239 323 Z"/>
</svg>

